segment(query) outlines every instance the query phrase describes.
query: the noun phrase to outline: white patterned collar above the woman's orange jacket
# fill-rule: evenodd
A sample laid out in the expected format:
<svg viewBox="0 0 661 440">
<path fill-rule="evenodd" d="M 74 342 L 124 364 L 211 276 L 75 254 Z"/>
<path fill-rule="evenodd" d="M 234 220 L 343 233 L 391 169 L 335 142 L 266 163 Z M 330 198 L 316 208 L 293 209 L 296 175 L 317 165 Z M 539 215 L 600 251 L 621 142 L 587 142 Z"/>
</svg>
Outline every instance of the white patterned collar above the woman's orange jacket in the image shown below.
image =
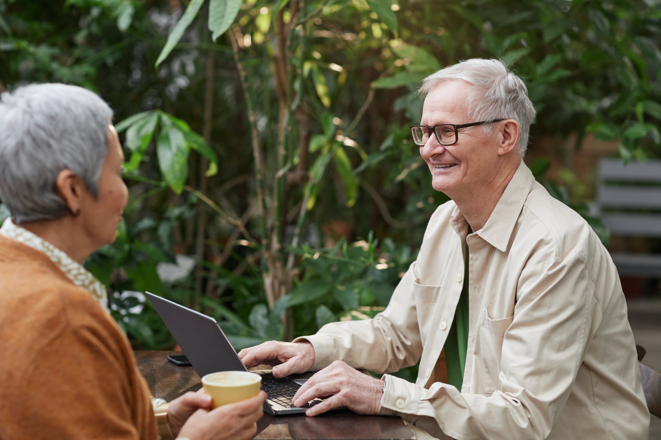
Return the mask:
<svg viewBox="0 0 661 440">
<path fill-rule="evenodd" d="M 42 237 L 14 224 L 11 218 L 7 218 L 0 228 L 0 235 L 19 241 L 24 245 L 32 247 L 44 253 L 64 274 L 79 288 L 87 290 L 97 299 L 98 303 L 108 311 L 108 293 L 105 286 L 95 278 L 89 270 L 73 261 L 69 255 L 61 251 Z"/>
</svg>

